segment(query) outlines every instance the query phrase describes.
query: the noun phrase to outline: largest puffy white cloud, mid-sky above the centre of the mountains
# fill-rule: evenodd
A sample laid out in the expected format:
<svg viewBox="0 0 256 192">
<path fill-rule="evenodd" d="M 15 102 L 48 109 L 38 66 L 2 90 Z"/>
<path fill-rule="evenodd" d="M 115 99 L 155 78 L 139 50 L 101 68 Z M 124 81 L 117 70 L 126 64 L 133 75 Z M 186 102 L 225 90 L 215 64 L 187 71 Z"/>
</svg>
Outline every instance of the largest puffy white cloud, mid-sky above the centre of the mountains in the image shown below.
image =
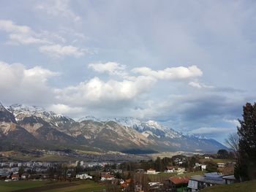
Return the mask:
<svg viewBox="0 0 256 192">
<path fill-rule="evenodd" d="M 136 80 L 108 80 L 104 82 L 98 77 L 80 82 L 79 85 L 56 89 L 57 99 L 65 104 L 75 106 L 108 106 L 120 102 L 132 101 L 140 94 L 150 91 L 155 80 L 151 77 L 137 77 Z"/>
</svg>

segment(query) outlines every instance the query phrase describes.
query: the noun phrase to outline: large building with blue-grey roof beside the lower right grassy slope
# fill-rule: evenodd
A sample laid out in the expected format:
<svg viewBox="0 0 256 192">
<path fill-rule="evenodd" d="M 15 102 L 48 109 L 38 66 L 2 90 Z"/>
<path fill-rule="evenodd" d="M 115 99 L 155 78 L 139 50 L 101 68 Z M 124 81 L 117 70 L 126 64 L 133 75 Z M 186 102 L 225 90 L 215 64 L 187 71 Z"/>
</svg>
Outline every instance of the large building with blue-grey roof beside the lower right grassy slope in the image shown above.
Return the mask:
<svg viewBox="0 0 256 192">
<path fill-rule="evenodd" d="M 196 192 L 202 188 L 210 187 L 212 185 L 223 185 L 225 180 L 222 174 L 217 172 L 206 173 L 204 175 L 194 175 L 189 178 L 187 185 L 188 191 Z"/>
</svg>

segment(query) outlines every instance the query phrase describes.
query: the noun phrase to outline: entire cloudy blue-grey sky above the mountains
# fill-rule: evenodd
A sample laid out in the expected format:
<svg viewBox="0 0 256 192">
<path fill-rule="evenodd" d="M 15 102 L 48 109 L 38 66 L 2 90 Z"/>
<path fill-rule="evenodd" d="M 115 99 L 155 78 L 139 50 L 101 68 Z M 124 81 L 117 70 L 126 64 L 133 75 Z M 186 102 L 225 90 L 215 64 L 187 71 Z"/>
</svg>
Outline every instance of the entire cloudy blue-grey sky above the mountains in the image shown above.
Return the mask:
<svg viewBox="0 0 256 192">
<path fill-rule="evenodd" d="M 0 101 L 223 142 L 256 93 L 256 1 L 0 1 Z"/>
</svg>

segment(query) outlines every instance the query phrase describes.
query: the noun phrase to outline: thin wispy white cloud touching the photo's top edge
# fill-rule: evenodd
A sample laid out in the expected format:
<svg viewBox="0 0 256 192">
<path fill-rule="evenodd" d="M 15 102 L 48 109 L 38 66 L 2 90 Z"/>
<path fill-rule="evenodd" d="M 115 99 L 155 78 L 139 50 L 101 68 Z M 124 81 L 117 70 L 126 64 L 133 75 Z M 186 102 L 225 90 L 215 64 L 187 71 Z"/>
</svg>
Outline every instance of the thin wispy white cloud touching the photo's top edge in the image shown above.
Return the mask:
<svg viewBox="0 0 256 192">
<path fill-rule="evenodd" d="M 75 22 L 81 20 L 80 16 L 72 12 L 67 0 L 44 1 L 41 4 L 37 4 L 36 9 L 45 11 L 50 17 L 64 17 Z"/>
</svg>

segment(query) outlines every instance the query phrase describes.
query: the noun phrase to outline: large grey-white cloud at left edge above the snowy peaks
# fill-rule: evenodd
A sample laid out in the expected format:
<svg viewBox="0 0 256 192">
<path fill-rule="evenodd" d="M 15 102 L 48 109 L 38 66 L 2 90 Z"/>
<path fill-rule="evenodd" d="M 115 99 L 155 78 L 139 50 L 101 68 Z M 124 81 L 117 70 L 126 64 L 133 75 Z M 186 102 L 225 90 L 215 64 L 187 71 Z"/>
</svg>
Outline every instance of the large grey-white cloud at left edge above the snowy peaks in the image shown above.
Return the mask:
<svg viewBox="0 0 256 192">
<path fill-rule="evenodd" d="M 7 64 L 0 61 L 1 99 L 11 103 L 50 102 L 53 92 L 47 81 L 57 75 L 59 73 L 43 69 L 41 66 L 26 69 L 23 64 Z"/>
</svg>

